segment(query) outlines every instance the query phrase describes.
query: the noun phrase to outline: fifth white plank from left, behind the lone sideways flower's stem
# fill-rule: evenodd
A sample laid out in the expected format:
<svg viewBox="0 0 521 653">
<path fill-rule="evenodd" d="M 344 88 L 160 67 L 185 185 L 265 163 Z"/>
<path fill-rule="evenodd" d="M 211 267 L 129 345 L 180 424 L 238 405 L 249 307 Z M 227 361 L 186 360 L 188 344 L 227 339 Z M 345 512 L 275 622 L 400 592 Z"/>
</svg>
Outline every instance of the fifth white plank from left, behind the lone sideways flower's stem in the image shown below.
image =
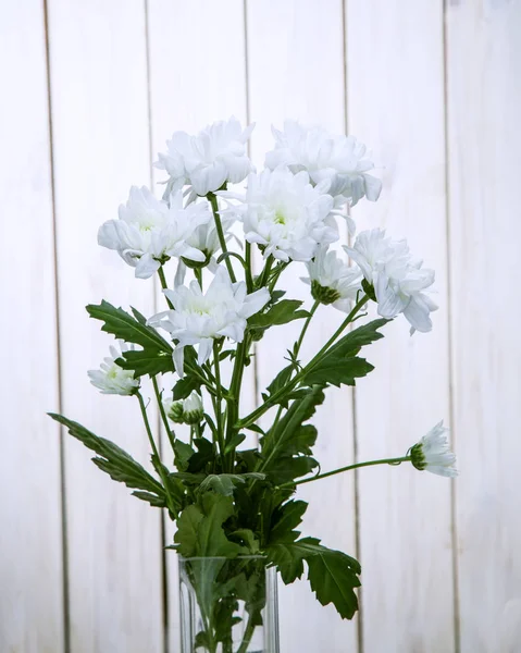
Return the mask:
<svg viewBox="0 0 521 653">
<path fill-rule="evenodd" d="M 368 350 L 375 371 L 356 393 L 360 460 L 405 455 L 449 418 L 444 188 L 443 14 L 427 0 L 348 0 L 349 131 L 383 167 L 358 229 L 385 226 L 436 270 L 434 330 L 405 318 Z M 412 466 L 360 470 L 363 650 L 454 650 L 450 483 Z"/>
</svg>

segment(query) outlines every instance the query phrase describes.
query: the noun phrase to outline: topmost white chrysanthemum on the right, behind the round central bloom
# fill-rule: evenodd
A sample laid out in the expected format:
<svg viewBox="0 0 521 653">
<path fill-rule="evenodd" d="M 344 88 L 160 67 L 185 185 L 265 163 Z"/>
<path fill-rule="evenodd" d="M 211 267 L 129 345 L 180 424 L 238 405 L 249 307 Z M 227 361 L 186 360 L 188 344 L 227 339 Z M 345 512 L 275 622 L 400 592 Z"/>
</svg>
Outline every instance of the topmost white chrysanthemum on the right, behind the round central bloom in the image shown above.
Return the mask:
<svg viewBox="0 0 521 653">
<path fill-rule="evenodd" d="M 306 127 L 294 120 L 280 132 L 272 127 L 275 149 L 266 153 L 265 165 L 274 170 L 288 165 L 306 170 L 313 184 L 327 181 L 327 193 L 356 205 L 362 197 L 376 201 L 382 182 L 368 174 L 374 168 L 367 147 L 353 136 L 335 136 L 322 127 Z"/>
</svg>

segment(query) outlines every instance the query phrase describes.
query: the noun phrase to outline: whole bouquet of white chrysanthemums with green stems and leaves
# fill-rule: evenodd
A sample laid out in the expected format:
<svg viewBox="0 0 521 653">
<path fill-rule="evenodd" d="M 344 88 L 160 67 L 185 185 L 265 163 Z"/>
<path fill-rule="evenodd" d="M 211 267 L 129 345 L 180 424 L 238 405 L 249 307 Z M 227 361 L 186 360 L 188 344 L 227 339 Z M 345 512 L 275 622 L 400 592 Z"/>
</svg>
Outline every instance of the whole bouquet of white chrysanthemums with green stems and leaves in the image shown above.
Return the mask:
<svg viewBox="0 0 521 653">
<path fill-rule="evenodd" d="M 176 522 L 172 547 L 182 557 L 185 618 L 195 619 L 183 633 L 183 650 L 190 653 L 276 651 L 276 636 L 266 634 L 273 616 L 266 569 L 290 583 L 306 563 L 318 600 L 333 603 L 343 618 L 355 615 L 360 566 L 318 539 L 300 538 L 307 504 L 293 498 L 299 484 L 405 461 L 442 476 L 457 473 L 442 422 L 401 457 L 313 473 L 318 433 L 309 420 L 324 391 L 355 385 L 373 370 L 360 350 L 383 337 L 381 330 L 399 313 L 411 333 L 431 330 L 434 271 L 412 258 L 406 241 L 379 229 L 361 232 L 344 246 L 344 256 L 330 248 L 340 237 L 338 221 L 346 220 L 355 236 L 347 209 L 363 197 L 379 198 L 381 183 L 369 174 L 373 163 L 365 146 L 287 121 L 283 132 L 274 130 L 275 147 L 258 173 L 246 150 L 251 131 L 231 119 L 197 136 L 175 133 L 157 163 L 169 175 L 163 198 L 133 187 L 119 220 L 99 231 L 100 245 L 116 250 L 137 278 L 157 273 L 164 293 L 165 310 L 151 317 L 104 300 L 87 307 L 103 331 L 122 341 L 121 350 L 111 347 L 112 357 L 89 372 L 91 382 L 103 393 L 137 398 L 152 470 L 52 415 L 96 452 L 100 469 Z M 245 180 L 246 193 L 230 187 Z M 253 250 L 262 260 L 258 274 Z M 309 308 L 281 287 L 283 271 L 294 263 L 307 271 Z M 173 287 L 165 268 L 172 279 L 175 272 Z M 369 301 L 376 303 L 381 318 L 358 325 Z M 346 318 L 302 360 L 301 344 L 321 304 Z M 288 343 L 286 365 L 263 403 L 244 415 L 243 377 L 256 342 L 294 320 L 302 328 Z M 141 394 L 147 378 L 171 445 L 163 456 Z M 259 435 L 256 448 L 241 448 L 248 430 Z"/>
</svg>

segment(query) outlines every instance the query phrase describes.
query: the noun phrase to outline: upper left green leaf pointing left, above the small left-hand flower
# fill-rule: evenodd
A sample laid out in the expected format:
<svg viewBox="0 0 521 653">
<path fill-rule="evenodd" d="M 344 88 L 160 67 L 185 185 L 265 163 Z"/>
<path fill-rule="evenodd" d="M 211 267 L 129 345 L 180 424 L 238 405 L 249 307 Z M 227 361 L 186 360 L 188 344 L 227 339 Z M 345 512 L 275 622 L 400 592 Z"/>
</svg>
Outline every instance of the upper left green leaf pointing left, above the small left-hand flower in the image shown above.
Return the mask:
<svg viewBox="0 0 521 653">
<path fill-rule="evenodd" d="M 89 304 L 87 306 L 89 316 L 103 322 L 101 331 L 111 333 L 126 343 L 141 345 L 144 349 L 159 349 L 172 355 L 172 346 L 154 329 L 144 323 L 141 313 L 134 308 L 132 310 L 136 316 L 134 318 L 122 308 L 115 308 L 104 299 L 99 305 Z"/>
</svg>

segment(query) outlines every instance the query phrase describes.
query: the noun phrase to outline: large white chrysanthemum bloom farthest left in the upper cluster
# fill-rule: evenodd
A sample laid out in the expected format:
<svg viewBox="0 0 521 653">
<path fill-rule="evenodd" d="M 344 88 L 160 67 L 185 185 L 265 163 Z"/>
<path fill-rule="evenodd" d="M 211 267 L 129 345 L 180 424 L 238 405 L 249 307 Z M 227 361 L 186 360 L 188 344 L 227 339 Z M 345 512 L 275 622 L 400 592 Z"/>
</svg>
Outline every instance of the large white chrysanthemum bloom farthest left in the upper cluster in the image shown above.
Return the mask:
<svg viewBox="0 0 521 653">
<path fill-rule="evenodd" d="M 183 208 L 182 193 L 159 200 L 145 186 L 131 188 L 126 206 L 120 207 L 120 219 L 109 220 L 98 232 L 102 247 L 115 249 L 123 260 L 136 268 L 136 276 L 148 279 L 161 262 L 183 256 L 204 261 L 202 251 L 188 244 L 195 230 L 209 223 L 212 215 L 206 202 Z"/>
</svg>

